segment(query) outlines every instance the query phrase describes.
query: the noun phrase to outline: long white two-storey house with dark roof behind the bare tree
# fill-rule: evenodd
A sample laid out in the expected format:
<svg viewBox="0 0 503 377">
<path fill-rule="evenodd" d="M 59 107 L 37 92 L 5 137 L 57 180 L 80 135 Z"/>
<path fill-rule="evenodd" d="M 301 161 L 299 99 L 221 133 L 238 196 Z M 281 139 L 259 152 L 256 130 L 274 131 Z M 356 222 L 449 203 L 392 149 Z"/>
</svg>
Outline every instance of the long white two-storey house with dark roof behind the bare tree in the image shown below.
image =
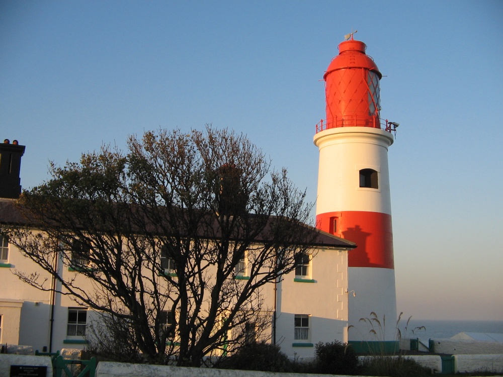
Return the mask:
<svg viewBox="0 0 503 377">
<path fill-rule="evenodd" d="M 17 159 L 19 166 L 21 149 L 24 152 L 24 146 L 0 145 L 0 164 L 9 155 L 11 160 Z M 0 166 L 0 172 L 7 174 L 2 169 Z M 16 174 L 19 196 L 19 169 L 14 171 Z M 0 185 L 0 225 L 26 224 L 14 207 L 13 196 L 16 197 L 12 191 L 2 191 Z M 84 334 L 92 317 L 91 310 L 76 306 L 70 297 L 58 293 L 61 287 L 56 280 L 24 257 L 5 237 L 1 242 L 0 343 L 30 345 L 52 352 L 85 347 Z M 299 261 L 297 268 L 282 281 L 263 289 L 267 307 L 276 309 L 276 331 L 271 332 L 271 341 L 279 344 L 288 356 L 312 357 L 317 342 L 347 342 L 348 252 L 354 247 L 353 242 L 321 232 L 312 247 L 313 257 Z M 41 291 L 26 284 L 13 273 L 15 270 L 39 273 L 51 282 L 51 289 Z M 81 279 L 83 288 L 93 290 L 90 281 L 79 276 L 71 266 L 60 263 L 58 271 Z"/>
</svg>

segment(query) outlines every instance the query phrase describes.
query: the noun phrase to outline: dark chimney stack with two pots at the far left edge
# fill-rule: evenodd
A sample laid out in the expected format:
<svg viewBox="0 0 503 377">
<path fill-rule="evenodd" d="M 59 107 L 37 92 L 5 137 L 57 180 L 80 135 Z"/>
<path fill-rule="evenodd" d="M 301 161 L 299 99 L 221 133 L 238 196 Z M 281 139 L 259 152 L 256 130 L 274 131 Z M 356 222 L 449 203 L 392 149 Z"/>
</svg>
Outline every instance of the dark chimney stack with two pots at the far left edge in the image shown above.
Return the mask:
<svg viewBox="0 0 503 377">
<path fill-rule="evenodd" d="M 5 139 L 0 144 L 0 198 L 18 199 L 21 195 L 21 156 L 25 153 L 25 146 L 19 145 L 17 140 L 11 144 Z"/>
</svg>

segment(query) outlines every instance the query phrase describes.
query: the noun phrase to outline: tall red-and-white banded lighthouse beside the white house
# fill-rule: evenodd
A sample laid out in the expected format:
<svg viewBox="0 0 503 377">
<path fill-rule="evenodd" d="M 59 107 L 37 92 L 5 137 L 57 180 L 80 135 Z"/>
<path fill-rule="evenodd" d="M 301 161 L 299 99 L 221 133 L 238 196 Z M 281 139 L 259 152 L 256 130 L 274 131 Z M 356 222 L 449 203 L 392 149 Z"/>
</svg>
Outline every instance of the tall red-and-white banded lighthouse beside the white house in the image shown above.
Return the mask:
<svg viewBox="0 0 503 377">
<path fill-rule="evenodd" d="M 348 340 L 396 346 L 396 294 L 388 148 L 398 124 L 380 119 L 382 77 L 367 46 L 339 44 L 323 76 L 326 119 L 316 125 L 319 149 L 317 227 L 356 242 L 348 263 Z M 360 321 L 377 315 L 381 326 Z M 362 343 L 362 340 L 365 342 Z M 381 344 L 382 346 L 382 344 Z"/>
</svg>

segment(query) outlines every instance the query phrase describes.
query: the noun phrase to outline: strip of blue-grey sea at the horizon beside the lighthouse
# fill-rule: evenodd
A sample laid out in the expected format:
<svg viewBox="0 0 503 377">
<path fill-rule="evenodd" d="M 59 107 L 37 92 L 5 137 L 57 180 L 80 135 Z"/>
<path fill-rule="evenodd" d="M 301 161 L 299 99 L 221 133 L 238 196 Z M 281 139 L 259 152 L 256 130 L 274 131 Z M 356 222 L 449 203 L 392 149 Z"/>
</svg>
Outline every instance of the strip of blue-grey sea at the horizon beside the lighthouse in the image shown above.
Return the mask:
<svg viewBox="0 0 503 377">
<path fill-rule="evenodd" d="M 447 339 L 460 332 L 503 334 L 503 321 L 435 321 L 411 318 L 408 326 L 406 326 L 406 319 L 402 321 L 403 318 L 398 324 L 402 338 L 419 338 L 423 342 L 426 341 L 426 344 L 429 339 Z M 418 329 L 422 326 L 425 329 Z"/>
</svg>

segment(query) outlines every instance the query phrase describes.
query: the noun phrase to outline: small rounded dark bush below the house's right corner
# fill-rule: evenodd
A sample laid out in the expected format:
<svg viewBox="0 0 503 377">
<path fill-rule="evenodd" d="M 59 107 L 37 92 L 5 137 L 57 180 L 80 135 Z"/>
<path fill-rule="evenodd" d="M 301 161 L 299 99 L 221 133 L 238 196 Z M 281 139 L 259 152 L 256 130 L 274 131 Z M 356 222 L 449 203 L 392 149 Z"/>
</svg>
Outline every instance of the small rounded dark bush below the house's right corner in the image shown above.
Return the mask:
<svg viewBox="0 0 503 377">
<path fill-rule="evenodd" d="M 339 341 L 316 343 L 315 369 L 323 374 L 356 374 L 358 356 L 348 344 Z"/>
</svg>

